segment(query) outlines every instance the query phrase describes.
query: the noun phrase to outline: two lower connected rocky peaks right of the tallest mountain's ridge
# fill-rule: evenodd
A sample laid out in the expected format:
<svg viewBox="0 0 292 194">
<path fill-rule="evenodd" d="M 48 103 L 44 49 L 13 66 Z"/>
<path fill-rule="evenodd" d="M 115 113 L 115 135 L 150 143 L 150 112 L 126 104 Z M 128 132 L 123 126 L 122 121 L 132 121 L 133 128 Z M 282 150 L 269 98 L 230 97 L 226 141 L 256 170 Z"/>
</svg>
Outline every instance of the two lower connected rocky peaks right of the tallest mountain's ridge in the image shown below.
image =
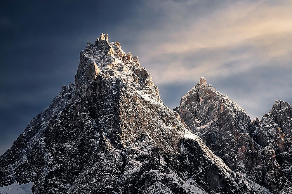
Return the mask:
<svg viewBox="0 0 292 194">
<path fill-rule="evenodd" d="M 276 101 L 261 122 L 252 123 L 244 109 L 201 78 L 174 110 L 237 182 L 247 177 L 272 193 L 292 193 L 291 105 Z"/>
</svg>

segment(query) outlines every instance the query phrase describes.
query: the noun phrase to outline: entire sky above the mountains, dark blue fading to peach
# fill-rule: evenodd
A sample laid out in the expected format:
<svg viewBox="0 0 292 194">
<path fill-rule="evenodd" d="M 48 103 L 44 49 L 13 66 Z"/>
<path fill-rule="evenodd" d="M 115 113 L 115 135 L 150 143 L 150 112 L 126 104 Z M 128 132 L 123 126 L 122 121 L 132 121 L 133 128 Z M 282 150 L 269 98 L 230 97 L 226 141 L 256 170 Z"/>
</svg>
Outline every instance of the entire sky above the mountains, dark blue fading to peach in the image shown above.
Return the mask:
<svg viewBox="0 0 292 194">
<path fill-rule="evenodd" d="M 0 155 L 74 82 L 100 33 L 139 56 L 170 108 L 201 76 L 247 113 L 292 103 L 291 1 L 1 1 Z"/>
</svg>

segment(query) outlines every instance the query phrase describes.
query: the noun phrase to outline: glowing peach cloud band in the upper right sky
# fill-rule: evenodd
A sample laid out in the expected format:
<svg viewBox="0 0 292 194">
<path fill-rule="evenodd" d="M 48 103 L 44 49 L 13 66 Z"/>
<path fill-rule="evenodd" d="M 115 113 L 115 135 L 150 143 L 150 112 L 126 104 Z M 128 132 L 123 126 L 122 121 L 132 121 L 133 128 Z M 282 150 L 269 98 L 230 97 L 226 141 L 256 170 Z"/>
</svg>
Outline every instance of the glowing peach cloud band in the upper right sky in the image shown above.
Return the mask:
<svg viewBox="0 0 292 194">
<path fill-rule="evenodd" d="M 169 10 L 170 18 L 172 11 Z M 265 1 L 239 1 L 199 19 L 196 14 L 189 15 L 188 18 L 179 17 L 181 22 L 188 24 L 187 28 L 177 24 L 178 19 L 175 19 L 174 22 L 162 24 L 161 29 L 146 32 L 157 43 L 151 49 L 146 46 L 147 56 L 143 58 L 147 61 L 165 54 L 185 55 L 206 49 L 235 49 L 240 45 L 253 46 L 263 58 L 285 55 L 291 51 L 291 18 L 290 1 L 277 5 L 269 5 Z M 182 28 L 173 28 L 166 33 L 170 25 Z M 277 43 L 279 41 L 281 44 Z M 283 42 L 287 43 L 283 45 Z"/>
</svg>

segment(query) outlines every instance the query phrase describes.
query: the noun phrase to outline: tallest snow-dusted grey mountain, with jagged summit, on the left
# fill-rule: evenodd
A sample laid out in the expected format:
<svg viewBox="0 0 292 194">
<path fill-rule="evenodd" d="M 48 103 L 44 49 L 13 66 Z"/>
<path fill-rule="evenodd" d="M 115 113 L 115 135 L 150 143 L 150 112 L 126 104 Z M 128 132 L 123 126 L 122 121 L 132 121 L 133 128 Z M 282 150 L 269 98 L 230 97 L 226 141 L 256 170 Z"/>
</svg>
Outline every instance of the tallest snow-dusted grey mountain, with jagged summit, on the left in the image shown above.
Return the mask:
<svg viewBox="0 0 292 194">
<path fill-rule="evenodd" d="M 221 100 L 221 112 L 201 115 L 204 124 L 232 107 Z M 81 51 L 75 83 L 0 157 L 0 186 L 32 181 L 34 194 L 270 193 L 236 177 L 186 124 L 164 106 L 138 57 L 101 34 Z"/>
</svg>

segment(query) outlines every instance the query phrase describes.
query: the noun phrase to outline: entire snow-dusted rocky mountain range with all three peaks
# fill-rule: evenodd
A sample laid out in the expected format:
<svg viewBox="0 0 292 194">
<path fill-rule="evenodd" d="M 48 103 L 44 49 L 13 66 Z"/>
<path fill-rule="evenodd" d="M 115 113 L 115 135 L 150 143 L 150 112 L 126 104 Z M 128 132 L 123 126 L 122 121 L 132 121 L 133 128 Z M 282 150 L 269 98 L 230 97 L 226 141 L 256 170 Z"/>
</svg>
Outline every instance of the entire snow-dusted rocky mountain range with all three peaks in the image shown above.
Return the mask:
<svg viewBox="0 0 292 194">
<path fill-rule="evenodd" d="M 101 34 L 0 157 L 0 193 L 292 193 L 291 113 L 278 100 L 251 122 L 205 78 L 171 110 L 138 57 Z"/>
</svg>

